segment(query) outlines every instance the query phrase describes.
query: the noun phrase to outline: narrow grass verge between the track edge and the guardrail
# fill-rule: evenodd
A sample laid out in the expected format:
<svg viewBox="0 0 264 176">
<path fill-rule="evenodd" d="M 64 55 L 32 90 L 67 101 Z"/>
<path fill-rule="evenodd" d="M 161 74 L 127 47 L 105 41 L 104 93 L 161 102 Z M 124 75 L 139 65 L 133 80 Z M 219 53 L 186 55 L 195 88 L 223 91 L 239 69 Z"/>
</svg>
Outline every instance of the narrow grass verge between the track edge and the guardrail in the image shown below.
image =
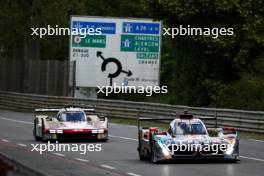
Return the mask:
<svg viewBox="0 0 264 176">
<path fill-rule="evenodd" d="M 137 126 L 138 121 L 136 119 L 121 119 L 121 118 L 109 118 L 110 123 L 124 124 L 124 125 L 133 125 Z M 153 122 L 153 121 L 142 121 L 140 123 L 141 127 L 159 127 L 162 129 L 168 129 L 169 123 L 162 122 Z M 264 134 L 252 133 L 252 132 L 239 132 L 240 139 L 256 139 L 264 140 Z"/>
</svg>

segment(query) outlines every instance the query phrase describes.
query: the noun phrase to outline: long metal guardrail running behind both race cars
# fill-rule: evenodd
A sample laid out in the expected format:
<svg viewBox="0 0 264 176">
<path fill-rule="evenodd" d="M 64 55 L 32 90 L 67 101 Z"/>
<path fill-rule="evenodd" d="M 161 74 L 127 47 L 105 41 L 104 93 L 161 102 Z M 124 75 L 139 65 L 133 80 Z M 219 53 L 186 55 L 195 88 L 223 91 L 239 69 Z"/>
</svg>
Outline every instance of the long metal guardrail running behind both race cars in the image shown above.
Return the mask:
<svg viewBox="0 0 264 176">
<path fill-rule="evenodd" d="M 0 109 L 33 111 L 35 108 L 54 108 L 65 105 L 87 107 L 95 105 L 96 111 L 109 117 L 135 119 L 146 117 L 171 118 L 172 113 L 189 113 L 204 119 L 207 126 L 233 126 L 239 131 L 264 133 L 264 112 L 218 108 L 198 108 L 158 103 L 132 102 L 106 99 L 77 99 L 0 91 Z M 215 120 L 212 120 L 215 117 Z"/>
</svg>

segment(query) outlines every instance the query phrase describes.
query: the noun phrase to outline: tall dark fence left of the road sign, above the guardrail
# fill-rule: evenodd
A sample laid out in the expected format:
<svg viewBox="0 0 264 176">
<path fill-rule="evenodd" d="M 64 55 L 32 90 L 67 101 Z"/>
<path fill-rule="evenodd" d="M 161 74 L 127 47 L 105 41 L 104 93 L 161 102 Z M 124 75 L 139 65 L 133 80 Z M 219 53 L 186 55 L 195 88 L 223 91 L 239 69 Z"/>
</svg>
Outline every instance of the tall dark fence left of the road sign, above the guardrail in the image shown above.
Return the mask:
<svg viewBox="0 0 264 176">
<path fill-rule="evenodd" d="M 0 58 L 0 90 L 67 96 L 72 69 L 68 61 Z"/>
</svg>

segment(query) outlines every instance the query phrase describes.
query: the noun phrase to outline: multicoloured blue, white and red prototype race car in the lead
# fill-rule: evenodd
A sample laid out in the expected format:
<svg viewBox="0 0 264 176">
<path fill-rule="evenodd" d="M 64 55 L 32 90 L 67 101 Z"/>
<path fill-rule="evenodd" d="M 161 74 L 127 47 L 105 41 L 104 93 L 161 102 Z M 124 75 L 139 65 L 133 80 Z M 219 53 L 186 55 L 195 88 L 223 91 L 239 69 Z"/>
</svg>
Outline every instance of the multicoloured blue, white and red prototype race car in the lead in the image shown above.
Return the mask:
<svg viewBox="0 0 264 176">
<path fill-rule="evenodd" d="M 141 121 L 168 120 L 138 119 L 138 152 L 141 160 L 153 163 L 179 159 L 217 159 L 236 162 L 239 159 L 239 140 L 234 128 L 206 128 L 199 118 L 182 114 L 172 120 L 169 130 L 141 127 Z"/>
</svg>

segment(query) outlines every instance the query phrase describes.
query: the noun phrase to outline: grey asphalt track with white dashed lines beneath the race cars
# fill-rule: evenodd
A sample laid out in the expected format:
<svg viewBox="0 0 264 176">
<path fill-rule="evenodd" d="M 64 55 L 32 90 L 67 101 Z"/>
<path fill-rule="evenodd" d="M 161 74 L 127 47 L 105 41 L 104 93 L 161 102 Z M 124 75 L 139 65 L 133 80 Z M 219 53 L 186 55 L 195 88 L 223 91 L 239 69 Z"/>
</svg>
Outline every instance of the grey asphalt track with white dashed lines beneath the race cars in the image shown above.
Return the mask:
<svg viewBox="0 0 264 176">
<path fill-rule="evenodd" d="M 33 118 L 30 113 L 0 110 L 0 153 L 51 176 L 130 175 L 130 176 L 260 176 L 264 169 L 264 141 L 240 140 L 240 161 L 220 163 L 184 161 L 152 164 L 140 161 L 137 153 L 137 128 L 110 124 L 109 141 L 102 151 L 39 152 L 31 151 Z M 76 143 L 76 142 L 72 142 Z M 81 142 L 92 143 L 92 142 Z M 99 142 L 100 143 L 100 142 Z M 44 143 L 42 143 L 44 144 Z M 94 143 L 97 144 L 97 143 Z"/>
</svg>

